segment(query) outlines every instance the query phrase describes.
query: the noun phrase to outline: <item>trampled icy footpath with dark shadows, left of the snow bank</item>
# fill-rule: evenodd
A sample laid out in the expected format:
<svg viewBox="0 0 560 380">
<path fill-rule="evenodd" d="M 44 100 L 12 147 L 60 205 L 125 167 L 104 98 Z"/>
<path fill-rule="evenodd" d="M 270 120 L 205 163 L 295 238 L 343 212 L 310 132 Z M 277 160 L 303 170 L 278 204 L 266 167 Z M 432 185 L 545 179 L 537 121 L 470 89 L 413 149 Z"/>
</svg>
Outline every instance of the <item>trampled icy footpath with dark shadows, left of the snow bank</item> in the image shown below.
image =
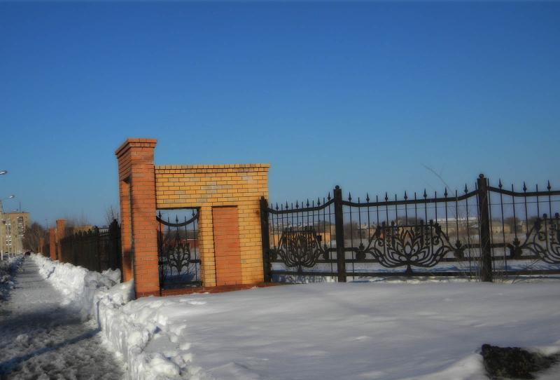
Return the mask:
<svg viewBox="0 0 560 380">
<path fill-rule="evenodd" d="M 120 379 L 123 362 L 103 344 L 97 324 L 26 259 L 8 299 L 0 301 L 1 379 Z"/>
</svg>

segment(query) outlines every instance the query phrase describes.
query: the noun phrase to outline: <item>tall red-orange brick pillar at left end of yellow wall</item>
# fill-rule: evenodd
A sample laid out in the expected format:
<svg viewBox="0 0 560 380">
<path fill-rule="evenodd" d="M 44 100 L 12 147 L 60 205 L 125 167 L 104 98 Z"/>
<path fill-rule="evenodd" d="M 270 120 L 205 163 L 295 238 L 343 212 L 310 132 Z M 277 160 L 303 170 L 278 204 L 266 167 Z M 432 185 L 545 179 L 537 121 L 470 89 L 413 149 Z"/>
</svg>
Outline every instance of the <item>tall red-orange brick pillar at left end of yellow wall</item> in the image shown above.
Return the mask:
<svg viewBox="0 0 560 380">
<path fill-rule="evenodd" d="M 118 160 L 123 278 L 130 268 L 137 297 L 160 294 L 158 223 L 155 220 L 155 139 L 128 139 Z"/>
</svg>

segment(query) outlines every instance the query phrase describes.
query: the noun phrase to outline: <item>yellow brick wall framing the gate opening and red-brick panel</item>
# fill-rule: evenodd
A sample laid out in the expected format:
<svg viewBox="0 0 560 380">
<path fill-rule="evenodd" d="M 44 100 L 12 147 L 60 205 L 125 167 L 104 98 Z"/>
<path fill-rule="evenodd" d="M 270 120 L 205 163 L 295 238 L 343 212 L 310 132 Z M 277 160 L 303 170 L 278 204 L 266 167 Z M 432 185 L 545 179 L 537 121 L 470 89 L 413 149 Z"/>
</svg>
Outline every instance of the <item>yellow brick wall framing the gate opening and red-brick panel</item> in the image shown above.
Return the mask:
<svg viewBox="0 0 560 380">
<path fill-rule="evenodd" d="M 241 282 L 260 283 L 262 242 L 260 197 L 268 199 L 269 164 L 161 165 L 155 167 L 156 205 L 200 208 L 199 249 L 204 286 L 216 285 L 212 208 L 237 206 Z"/>
</svg>

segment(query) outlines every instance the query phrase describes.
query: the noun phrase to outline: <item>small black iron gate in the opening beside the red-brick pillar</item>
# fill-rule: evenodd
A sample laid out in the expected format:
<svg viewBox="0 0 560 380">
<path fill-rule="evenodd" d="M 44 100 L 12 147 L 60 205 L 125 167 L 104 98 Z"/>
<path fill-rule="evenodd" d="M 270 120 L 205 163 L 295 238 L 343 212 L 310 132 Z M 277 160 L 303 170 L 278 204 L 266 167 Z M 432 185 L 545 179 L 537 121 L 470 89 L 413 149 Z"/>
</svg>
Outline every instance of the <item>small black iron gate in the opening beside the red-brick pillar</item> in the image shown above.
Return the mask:
<svg viewBox="0 0 560 380">
<path fill-rule="evenodd" d="M 176 210 L 175 210 L 176 211 Z M 167 217 L 158 212 L 158 266 L 160 287 L 173 289 L 184 286 L 202 285 L 200 276 L 200 254 L 198 245 L 198 209 L 180 211 Z M 174 220 L 171 222 L 170 220 Z"/>
</svg>

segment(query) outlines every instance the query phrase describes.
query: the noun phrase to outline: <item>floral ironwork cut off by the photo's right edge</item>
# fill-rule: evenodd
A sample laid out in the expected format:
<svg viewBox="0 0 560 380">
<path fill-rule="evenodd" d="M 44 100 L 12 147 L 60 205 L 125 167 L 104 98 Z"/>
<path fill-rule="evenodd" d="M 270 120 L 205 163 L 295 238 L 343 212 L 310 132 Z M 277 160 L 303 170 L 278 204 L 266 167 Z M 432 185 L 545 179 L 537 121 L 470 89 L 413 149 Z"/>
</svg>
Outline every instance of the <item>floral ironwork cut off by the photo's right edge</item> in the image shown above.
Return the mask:
<svg viewBox="0 0 560 380">
<path fill-rule="evenodd" d="M 560 264 L 560 215 L 556 212 L 554 219 L 547 214 L 535 220 L 523 243 L 516 237 L 511 244 L 510 257 L 522 259 L 524 250 L 537 255 L 548 264 Z"/>
</svg>

